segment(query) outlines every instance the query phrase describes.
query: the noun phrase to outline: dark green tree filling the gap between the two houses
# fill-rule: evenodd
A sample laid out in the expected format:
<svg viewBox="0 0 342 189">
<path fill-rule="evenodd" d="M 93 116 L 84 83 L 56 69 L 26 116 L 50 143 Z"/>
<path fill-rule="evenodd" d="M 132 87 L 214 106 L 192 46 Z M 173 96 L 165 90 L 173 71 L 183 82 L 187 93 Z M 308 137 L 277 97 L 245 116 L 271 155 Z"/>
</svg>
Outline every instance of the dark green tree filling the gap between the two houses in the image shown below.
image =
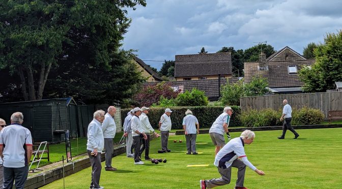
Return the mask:
<svg viewBox="0 0 342 189">
<path fill-rule="evenodd" d="M 222 47 L 219 52 L 230 52 L 232 56 L 232 72 L 236 77 L 243 76 L 244 52 L 242 49 L 234 50 L 234 47 Z"/>
</svg>

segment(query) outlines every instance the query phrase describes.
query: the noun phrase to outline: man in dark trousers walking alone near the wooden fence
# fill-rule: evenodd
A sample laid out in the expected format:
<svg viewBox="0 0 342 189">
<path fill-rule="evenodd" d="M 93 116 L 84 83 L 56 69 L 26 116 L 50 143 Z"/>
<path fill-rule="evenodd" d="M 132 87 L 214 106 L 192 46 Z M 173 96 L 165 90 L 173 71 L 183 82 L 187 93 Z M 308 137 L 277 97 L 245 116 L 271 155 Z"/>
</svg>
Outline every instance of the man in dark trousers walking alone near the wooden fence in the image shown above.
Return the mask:
<svg viewBox="0 0 342 189">
<path fill-rule="evenodd" d="M 299 137 L 299 134 L 291 126 L 292 108 L 288 104 L 288 100 L 286 99 L 282 101 L 282 104 L 284 105 L 284 107 L 282 108 L 282 115 L 280 117 L 280 121 L 284 120 L 284 123 L 282 124 L 282 135 L 278 137 L 278 139 L 284 139 L 287 130 L 290 130 L 295 135 L 294 139 L 297 139 Z"/>
</svg>

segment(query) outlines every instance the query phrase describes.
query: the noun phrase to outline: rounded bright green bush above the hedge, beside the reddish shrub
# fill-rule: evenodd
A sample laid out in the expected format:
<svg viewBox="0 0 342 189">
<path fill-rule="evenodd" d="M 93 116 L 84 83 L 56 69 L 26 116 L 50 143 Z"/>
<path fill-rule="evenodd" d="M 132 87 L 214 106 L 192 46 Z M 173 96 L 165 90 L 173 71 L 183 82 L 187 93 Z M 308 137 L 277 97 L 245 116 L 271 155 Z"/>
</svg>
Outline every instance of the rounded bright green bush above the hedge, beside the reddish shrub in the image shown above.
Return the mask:
<svg viewBox="0 0 342 189">
<path fill-rule="evenodd" d="M 204 91 L 193 88 L 190 91 L 178 94 L 176 98 L 177 106 L 207 106 L 208 97 Z"/>
</svg>

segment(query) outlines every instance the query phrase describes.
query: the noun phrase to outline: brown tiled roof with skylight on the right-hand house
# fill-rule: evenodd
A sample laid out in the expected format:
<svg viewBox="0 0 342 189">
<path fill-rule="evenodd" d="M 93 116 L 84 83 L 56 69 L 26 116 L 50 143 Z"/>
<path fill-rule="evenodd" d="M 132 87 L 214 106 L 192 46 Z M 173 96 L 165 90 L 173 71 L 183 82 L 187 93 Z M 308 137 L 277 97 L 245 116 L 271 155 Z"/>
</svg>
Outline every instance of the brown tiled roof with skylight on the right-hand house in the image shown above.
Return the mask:
<svg viewBox="0 0 342 189">
<path fill-rule="evenodd" d="M 287 60 L 287 61 L 267 61 L 268 70 L 259 70 L 259 62 L 245 62 L 244 73 L 245 82 L 249 83 L 252 77 L 262 76 L 267 78 L 270 88 L 300 87 L 303 82 L 299 80 L 298 74 L 289 74 L 289 66 L 296 66 L 297 73 L 302 66 L 312 65 L 315 59 Z"/>
</svg>

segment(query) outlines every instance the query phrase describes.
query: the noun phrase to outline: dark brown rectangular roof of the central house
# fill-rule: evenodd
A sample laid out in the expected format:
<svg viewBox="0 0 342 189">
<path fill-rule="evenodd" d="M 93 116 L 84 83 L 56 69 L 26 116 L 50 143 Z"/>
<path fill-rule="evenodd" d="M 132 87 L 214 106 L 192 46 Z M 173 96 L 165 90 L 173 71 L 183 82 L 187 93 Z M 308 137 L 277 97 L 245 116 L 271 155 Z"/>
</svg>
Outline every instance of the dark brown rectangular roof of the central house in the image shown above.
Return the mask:
<svg viewBox="0 0 342 189">
<path fill-rule="evenodd" d="M 185 54 L 175 57 L 175 77 L 231 75 L 230 52 Z"/>
</svg>

